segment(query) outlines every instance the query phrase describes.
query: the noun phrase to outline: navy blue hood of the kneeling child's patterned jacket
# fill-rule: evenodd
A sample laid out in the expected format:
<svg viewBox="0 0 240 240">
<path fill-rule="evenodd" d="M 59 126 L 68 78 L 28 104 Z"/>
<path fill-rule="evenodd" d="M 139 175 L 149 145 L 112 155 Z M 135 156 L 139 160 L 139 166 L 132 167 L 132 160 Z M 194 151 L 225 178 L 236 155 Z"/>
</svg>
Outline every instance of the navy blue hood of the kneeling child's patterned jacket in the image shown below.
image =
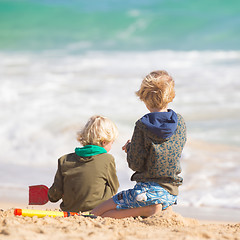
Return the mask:
<svg viewBox="0 0 240 240">
<path fill-rule="evenodd" d="M 170 138 L 177 129 L 177 114 L 168 109 L 168 112 L 152 112 L 144 115 L 141 122 L 162 139 Z"/>
</svg>

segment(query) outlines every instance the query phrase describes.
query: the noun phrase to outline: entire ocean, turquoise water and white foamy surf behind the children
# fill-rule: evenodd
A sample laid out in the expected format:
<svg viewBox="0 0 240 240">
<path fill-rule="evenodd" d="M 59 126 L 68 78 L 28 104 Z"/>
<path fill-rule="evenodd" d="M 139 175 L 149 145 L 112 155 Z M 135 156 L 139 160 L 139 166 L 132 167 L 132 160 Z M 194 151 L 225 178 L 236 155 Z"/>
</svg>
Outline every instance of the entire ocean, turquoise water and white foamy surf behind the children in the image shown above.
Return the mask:
<svg viewBox="0 0 240 240">
<path fill-rule="evenodd" d="M 128 3 L 128 4 L 127 4 Z M 240 208 L 239 1 L 0 0 L 0 200 L 52 184 L 57 159 L 94 114 L 119 129 L 120 190 L 133 186 L 121 150 L 147 113 L 135 91 L 167 70 L 186 120 L 178 205 Z"/>
</svg>

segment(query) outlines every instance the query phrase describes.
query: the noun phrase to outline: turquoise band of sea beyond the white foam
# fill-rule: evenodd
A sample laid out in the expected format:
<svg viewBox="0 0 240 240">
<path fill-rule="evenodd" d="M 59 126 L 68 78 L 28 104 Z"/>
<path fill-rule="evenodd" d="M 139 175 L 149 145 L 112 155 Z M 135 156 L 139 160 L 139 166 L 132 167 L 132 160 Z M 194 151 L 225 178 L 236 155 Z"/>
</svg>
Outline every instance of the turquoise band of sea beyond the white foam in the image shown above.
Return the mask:
<svg viewBox="0 0 240 240">
<path fill-rule="evenodd" d="M 238 50 L 238 0 L 1 0 L 0 49 Z"/>
</svg>

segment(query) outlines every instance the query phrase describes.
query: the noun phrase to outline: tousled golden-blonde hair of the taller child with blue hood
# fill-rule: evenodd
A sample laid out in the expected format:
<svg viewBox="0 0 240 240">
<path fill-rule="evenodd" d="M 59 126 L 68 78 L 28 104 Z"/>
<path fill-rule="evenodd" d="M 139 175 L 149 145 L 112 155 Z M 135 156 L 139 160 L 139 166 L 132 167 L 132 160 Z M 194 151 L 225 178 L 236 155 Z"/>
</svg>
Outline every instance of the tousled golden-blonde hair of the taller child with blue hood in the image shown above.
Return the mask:
<svg viewBox="0 0 240 240">
<path fill-rule="evenodd" d="M 154 71 L 142 81 L 136 95 L 147 107 L 163 109 L 175 97 L 174 80 L 166 71 Z"/>
</svg>

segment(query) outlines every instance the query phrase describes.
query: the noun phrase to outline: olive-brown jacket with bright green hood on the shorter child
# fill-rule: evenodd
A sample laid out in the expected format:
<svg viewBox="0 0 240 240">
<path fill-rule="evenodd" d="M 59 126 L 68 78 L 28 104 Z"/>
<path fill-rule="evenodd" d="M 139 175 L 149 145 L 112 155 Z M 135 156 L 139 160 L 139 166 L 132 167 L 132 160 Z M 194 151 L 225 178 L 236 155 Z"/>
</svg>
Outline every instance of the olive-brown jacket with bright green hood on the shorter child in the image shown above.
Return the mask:
<svg viewBox="0 0 240 240">
<path fill-rule="evenodd" d="M 48 198 L 62 199 L 63 211 L 90 211 L 116 194 L 118 187 L 113 156 L 102 147 L 86 145 L 58 160 Z"/>
</svg>

